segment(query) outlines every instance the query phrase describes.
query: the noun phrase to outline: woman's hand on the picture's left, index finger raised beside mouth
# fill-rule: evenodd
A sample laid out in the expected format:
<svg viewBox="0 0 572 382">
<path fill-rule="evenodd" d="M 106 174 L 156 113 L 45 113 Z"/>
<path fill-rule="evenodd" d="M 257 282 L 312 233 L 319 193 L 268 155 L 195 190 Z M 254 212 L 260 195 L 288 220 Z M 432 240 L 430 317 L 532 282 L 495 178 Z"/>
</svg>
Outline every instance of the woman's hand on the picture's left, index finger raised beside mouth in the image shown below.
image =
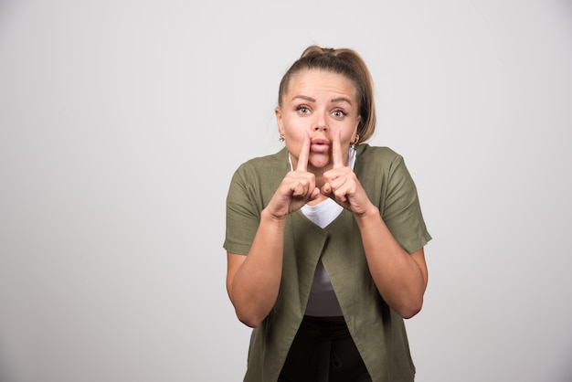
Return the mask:
<svg viewBox="0 0 572 382">
<path fill-rule="evenodd" d="M 273 218 L 286 218 L 320 195 L 315 175 L 307 171 L 309 155 L 310 135 L 304 133 L 296 170 L 284 176 L 266 207 Z"/>
</svg>

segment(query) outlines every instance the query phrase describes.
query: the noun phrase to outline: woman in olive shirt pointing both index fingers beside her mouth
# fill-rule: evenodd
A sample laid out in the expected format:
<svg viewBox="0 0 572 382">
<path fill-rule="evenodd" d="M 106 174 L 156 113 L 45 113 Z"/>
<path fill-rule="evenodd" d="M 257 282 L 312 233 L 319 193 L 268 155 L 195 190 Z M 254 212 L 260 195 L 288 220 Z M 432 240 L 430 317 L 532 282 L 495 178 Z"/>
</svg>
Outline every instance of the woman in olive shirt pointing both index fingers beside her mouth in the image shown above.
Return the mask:
<svg viewBox="0 0 572 382">
<path fill-rule="evenodd" d="M 373 83 L 352 49 L 312 46 L 281 80 L 277 154 L 227 198 L 227 288 L 254 328 L 245 381 L 411 381 L 404 318 L 431 239 L 403 158 L 367 143 Z"/>
</svg>

